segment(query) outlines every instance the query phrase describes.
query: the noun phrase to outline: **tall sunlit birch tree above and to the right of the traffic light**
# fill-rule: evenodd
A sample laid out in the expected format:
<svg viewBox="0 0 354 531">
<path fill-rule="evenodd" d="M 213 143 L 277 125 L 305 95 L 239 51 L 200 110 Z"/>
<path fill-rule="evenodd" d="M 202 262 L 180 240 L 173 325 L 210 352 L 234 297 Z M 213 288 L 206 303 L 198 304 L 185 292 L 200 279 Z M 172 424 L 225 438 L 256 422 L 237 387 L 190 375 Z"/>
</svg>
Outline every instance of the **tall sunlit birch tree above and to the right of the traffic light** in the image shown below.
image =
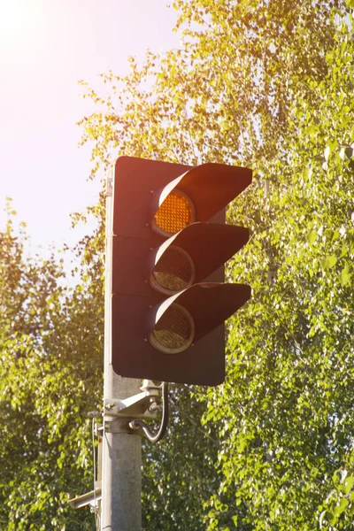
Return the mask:
<svg viewBox="0 0 354 531">
<path fill-rule="evenodd" d="M 98 111 L 81 126 L 95 167 L 124 154 L 254 169 L 228 212 L 251 241 L 227 271 L 253 296 L 227 325 L 227 380 L 195 391 L 219 433 L 204 528 L 350 530 L 352 3 L 173 5 L 181 49 L 104 74 L 108 96 L 86 87 Z"/>
</svg>

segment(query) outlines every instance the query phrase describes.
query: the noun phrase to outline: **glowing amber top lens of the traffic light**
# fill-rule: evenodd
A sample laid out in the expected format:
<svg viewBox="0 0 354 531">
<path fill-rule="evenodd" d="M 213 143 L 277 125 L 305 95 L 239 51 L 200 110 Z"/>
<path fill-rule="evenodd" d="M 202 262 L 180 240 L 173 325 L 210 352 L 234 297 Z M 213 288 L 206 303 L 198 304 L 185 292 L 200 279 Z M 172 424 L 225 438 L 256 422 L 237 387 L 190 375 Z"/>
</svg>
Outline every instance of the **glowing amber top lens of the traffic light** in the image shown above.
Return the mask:
<svg viewBox="0 0 354 531">
<path fill-rule="evenodd" d="M 173 190 L 158 207 L 151 226 L 160 235 L 175 235 L 196 220 L 195 209 L 189 196 Z"/>
</svg>

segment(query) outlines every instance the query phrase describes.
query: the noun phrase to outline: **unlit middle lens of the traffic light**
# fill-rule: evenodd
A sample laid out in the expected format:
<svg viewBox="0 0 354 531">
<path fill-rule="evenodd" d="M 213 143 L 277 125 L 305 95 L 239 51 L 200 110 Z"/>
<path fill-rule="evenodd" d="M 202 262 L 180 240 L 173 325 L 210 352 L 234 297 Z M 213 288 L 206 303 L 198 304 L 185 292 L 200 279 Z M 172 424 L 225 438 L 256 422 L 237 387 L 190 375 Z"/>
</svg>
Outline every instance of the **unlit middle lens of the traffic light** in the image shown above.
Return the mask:
<svg viewBox="0 0 354 531">
<path fill-rule="evenodd" d="M 193 284 L 195 268 L 189 254 L 180 247 L 171 246 L 158 260 L 151 276 L 152 288 L 173 295 Z"/>
</svg>

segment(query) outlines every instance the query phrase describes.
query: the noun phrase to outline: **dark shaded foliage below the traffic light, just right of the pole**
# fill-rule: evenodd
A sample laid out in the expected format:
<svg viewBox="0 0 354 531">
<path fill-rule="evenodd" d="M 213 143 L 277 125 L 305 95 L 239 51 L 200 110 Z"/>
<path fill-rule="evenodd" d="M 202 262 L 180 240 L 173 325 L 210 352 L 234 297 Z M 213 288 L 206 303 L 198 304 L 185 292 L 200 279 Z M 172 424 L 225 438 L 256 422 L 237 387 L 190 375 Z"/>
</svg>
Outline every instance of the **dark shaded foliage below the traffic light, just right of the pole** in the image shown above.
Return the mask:
<svg viewBox="0 0 354 531">
<path fill-rule="evenodd" d="M 142 529 L 203 529 L 203 504 L 217 489 L 216 425 L 201 427 L 205 405 L 188 386 L 170 389 L 163 440 L 142 446 Z"/>
</svg>

